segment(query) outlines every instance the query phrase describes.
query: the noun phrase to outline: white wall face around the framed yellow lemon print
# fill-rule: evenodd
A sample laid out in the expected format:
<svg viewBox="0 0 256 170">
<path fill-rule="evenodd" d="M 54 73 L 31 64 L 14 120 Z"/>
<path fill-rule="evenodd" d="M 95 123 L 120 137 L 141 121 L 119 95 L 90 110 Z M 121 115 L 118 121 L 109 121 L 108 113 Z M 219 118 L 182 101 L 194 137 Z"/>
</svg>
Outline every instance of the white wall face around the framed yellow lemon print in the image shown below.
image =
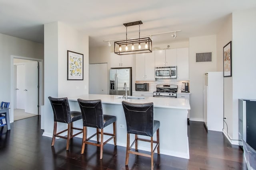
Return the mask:
<svg viewBox="0 0 256 170">
<path fill-rule="evenodd" d="M 84 55 L 84 80 L 67 80 L 67 50 Z M 58 23 L 58 96 L 88 94 L 88 35 Z"/>
</svg>

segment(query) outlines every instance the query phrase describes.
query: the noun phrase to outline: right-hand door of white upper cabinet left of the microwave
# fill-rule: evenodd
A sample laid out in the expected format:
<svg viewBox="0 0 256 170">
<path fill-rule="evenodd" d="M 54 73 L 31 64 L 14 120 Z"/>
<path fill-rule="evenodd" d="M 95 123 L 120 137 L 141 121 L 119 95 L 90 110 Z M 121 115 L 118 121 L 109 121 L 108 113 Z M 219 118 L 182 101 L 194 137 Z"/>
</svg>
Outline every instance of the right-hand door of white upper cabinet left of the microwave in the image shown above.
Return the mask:
<svg viewBox="0 0 256 170">
<path fill-rule="evenodd" d="M 155 53 L 145 53 L 145 79 L 155 81 Z"/>
</svg>

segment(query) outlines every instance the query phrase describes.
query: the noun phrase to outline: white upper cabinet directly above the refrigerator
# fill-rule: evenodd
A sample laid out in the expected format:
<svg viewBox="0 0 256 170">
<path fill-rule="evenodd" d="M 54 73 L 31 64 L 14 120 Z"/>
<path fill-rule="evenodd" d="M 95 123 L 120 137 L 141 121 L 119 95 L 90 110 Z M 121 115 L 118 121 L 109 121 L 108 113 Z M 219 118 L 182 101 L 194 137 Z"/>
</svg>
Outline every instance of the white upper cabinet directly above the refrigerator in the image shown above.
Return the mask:
<svg viewBox="0 0 256 170">
<path fill-rule="evenodd" d="M 110 67 L 132 67 L 132 55 L 117 55 L 115 53 L 110 54 Z"/>
</svg>

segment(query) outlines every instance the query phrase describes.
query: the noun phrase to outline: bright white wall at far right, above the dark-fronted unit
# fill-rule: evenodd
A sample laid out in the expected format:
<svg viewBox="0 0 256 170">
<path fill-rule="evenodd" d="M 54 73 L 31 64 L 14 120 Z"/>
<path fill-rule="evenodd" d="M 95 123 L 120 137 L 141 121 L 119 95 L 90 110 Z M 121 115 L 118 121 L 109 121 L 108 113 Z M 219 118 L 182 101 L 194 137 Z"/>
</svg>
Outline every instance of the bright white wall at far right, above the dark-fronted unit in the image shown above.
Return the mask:
<svg viewBox="0 0 256 170">
<path fill-rule="evenodd" d="M 238 99 L 256 99 L 256 8 L 232 15 L 233 127 L 232 139 L 238 139 Z"/>
</svg>

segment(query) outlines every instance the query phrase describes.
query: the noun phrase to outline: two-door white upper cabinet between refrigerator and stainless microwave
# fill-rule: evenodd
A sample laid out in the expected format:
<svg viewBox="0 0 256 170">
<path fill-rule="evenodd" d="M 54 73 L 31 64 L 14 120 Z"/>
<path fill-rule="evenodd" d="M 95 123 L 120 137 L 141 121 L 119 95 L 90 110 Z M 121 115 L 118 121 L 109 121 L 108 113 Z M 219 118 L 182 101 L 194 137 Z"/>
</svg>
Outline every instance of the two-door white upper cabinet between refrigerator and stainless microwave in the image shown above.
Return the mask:
<svg viewBox="0 0 256 170">
<path fill-rule="evenodd" d="M 155 53 L 136 54 L 136 81 L 155 81 Z"/>
</svg>

